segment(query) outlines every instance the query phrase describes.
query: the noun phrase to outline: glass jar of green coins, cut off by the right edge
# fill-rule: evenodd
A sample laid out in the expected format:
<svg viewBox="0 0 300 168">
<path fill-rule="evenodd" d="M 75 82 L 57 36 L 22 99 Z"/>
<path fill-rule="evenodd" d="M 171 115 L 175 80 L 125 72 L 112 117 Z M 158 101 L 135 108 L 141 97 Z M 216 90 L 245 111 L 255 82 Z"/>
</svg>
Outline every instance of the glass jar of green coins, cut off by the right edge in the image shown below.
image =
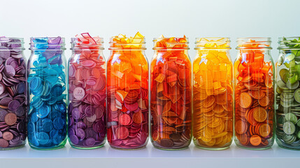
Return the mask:
<svg viewBox="0 0 300 168">
<path fill-rule="evenodd" d="M 300 149 L 300 37 L 279 38 L 276 63 L 276 142 Z"/>
</svg>

